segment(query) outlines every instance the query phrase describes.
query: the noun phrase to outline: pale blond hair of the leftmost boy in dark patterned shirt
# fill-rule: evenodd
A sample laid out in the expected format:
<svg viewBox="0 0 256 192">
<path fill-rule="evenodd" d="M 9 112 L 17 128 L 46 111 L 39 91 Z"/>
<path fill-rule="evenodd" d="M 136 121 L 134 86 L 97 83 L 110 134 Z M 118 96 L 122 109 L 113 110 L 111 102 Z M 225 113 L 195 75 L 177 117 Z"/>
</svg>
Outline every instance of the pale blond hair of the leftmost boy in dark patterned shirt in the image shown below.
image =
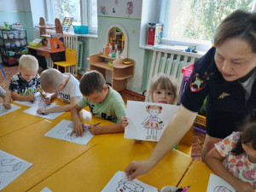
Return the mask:
<svg viewBox="0 0 256 192">
<path fill-rule="evenodd" d="M 19 61 L 19 69 L 38 71 L 38 60 L 32 55 L 21 55 Z"/>
</svg>

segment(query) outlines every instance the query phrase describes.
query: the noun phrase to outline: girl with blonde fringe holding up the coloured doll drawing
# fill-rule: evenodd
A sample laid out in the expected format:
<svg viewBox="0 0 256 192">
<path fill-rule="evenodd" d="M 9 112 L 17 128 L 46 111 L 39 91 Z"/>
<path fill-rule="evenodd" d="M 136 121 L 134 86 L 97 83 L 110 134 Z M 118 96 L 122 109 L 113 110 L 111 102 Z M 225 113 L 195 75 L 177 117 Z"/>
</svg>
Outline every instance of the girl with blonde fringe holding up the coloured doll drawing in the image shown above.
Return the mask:
<svg viewBox="0 0 256 192">
<path fill-rule="evenodd" d="M 159 74 L 151 79 L 149 89 L 152 102 L 172 104 L 177 99 L 177 84 L 166 74 Z M 128 125 L 125 116 L 122 117 L 122 125 L 124 128 Z M 148 137 L 150 137 L 150 134 L 148 134 Z"/>
</svg>

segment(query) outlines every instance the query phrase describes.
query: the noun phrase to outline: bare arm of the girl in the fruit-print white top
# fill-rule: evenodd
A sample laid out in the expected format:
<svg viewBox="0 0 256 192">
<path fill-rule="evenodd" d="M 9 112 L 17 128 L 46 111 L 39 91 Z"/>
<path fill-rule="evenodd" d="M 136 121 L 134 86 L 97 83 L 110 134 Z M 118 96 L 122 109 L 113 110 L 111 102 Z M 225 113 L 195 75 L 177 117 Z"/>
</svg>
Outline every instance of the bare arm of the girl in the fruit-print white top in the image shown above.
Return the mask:
<svg viewBox="0 0 256 192">
<path fill-rule="evenodd" d="M 207 154 L 205 161 L 207 165 L 211 167 L 213 172 L 216 172 L 219 177 L 222 177 L 225 181 L 230 183 L 237 192 L 254 192 L 252 186 L 239 180 L 223 166 L 223 160 L 224 157 L 218 153 L 218 150 L 216 148 L 212 148 L 212 150 Z"/>
</svg>

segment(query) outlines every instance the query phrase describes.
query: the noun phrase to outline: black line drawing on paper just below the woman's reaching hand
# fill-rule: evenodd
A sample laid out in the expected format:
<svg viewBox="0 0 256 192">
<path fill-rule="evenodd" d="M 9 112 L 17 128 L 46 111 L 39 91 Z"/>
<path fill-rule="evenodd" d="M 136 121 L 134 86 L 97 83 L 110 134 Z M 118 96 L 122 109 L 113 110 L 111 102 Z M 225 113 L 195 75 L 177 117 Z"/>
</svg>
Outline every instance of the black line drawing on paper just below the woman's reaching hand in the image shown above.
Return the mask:
<svg viewBox="0 0 256 192">
<path fill-rule="evenodd" d="M 121 179 L 119 181 L 119 186 L 117 187 L 117 192 L 143 192 L 143 186 L 139 185 L 134 181 L 129 181 L 128 178 Z"/>
</svg>

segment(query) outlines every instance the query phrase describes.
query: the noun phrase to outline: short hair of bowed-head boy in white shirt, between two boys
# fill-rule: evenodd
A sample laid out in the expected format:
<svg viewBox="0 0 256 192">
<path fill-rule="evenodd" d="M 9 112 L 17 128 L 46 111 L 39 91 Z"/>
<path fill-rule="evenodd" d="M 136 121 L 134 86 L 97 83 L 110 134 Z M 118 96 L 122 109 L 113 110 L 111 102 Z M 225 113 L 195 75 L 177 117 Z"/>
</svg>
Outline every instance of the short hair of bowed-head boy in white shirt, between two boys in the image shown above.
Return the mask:
<svg viewBox="0 0 256 192">
<path fill-rule="evenodd" d="M 46 92 L 49 88 L 58 89 L 62 80 L 63 74 L 55 68 L 46 69 L 40 75 L 41 87 Z"/>
</svg>

